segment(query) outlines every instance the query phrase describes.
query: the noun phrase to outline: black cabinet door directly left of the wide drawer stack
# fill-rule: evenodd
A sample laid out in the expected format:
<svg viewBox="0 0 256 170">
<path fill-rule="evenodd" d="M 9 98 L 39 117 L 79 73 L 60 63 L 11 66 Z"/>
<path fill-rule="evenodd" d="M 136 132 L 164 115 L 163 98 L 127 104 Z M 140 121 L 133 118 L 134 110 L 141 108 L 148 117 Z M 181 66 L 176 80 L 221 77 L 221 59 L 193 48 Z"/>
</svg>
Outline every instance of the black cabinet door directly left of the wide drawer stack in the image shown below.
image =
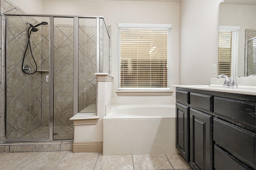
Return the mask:
<svg viewBox="0 0 256 170">
<path fill-rule="evenodd" d="M 190 165 L 194 170 L 212 170 L 212 120 L 190 108 Z"/>
</svg>

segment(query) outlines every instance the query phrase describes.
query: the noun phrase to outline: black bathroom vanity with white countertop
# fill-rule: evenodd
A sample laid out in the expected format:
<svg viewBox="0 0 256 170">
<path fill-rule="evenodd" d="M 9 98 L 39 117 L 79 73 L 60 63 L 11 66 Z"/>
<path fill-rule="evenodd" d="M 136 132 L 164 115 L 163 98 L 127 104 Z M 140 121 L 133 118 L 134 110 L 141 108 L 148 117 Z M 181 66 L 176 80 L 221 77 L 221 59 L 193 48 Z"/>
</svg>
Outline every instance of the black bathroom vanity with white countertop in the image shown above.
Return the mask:
<svg viewBox="0 0 256 170">
<path fill-rule="evenodd" d="M 175 86 L 176 148 L 194 170 L 256 170 L 256 88 Z"/>
</svg>

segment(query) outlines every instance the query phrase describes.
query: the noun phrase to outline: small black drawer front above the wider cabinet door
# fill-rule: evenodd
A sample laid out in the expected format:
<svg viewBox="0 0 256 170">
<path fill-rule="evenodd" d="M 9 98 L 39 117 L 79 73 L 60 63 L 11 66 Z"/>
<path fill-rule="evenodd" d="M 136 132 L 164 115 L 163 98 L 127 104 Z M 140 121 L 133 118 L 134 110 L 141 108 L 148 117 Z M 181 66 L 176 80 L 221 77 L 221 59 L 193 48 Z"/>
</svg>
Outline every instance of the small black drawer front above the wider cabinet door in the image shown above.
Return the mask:
<svg viewBox="0 0 256 170">
<path fill-rule="evenodd" d="M 213 96 L 190 93 L 190 104 L 198 108 L 213 112 Z"/>
</svg>

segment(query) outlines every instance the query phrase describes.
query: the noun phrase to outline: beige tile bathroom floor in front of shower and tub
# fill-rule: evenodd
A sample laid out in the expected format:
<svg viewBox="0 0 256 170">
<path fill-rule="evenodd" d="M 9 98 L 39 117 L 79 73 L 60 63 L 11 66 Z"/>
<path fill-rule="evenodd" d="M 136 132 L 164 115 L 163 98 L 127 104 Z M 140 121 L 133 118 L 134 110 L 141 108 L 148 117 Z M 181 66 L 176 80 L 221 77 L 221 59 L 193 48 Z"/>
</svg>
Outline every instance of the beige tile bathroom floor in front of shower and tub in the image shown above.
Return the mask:
<svg viewBox="0 0 256 170">
<path fill-rule="evenodd" d="M 0 153 L 0 162 L 0 170 L 192 170 L 180 154 L 7 152 Z"/>
</svg>

